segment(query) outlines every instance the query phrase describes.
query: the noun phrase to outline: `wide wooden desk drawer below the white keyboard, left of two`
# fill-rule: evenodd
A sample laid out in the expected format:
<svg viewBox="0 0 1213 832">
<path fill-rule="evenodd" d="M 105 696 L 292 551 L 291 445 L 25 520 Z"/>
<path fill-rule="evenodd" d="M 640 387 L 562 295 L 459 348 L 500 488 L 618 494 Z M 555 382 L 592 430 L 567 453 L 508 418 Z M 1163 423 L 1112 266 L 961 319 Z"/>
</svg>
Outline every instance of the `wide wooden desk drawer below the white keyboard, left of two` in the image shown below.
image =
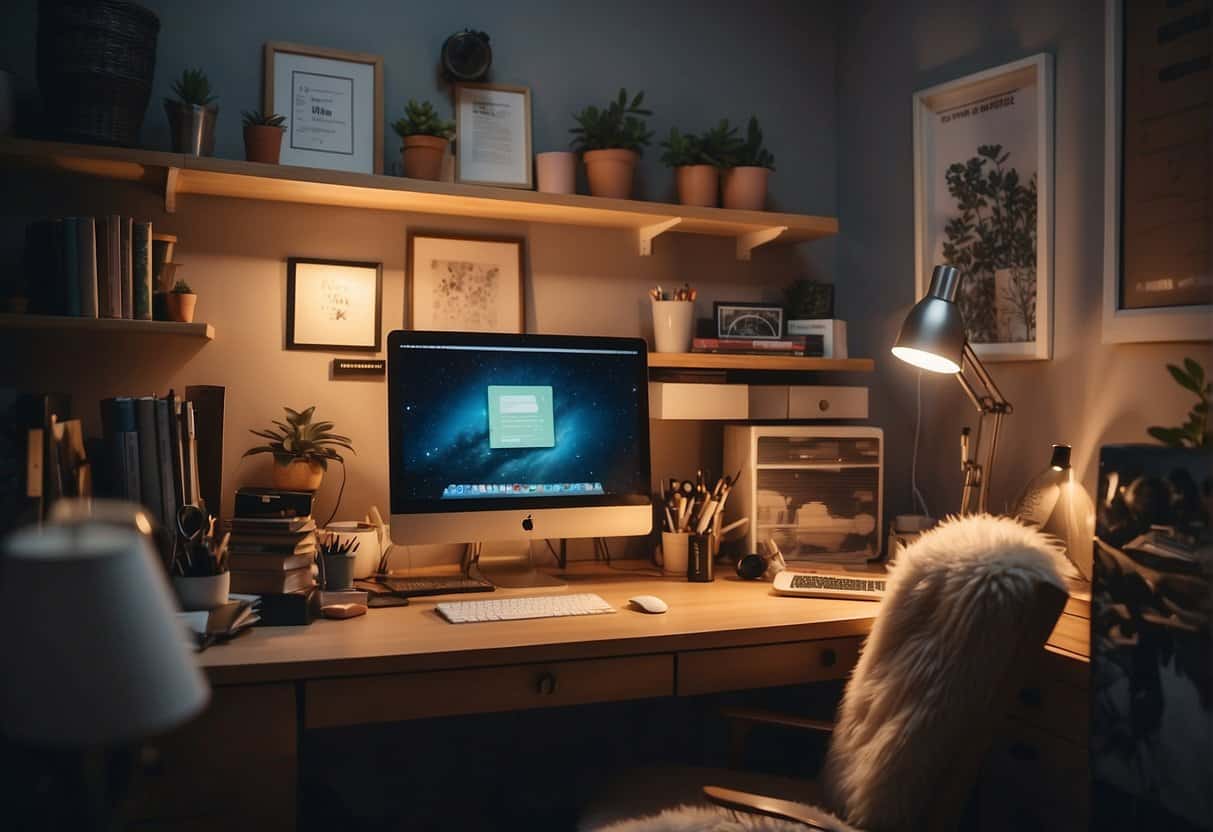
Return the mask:
<svg viewBox="0 0 1213 832">
<path fill-rule="evenodd" d="M 671 696 L 672 655 L 466 671 L 358 676 L 307 683 L 304 725 L 336 728 L 562 705 Z"/>
</svg>

